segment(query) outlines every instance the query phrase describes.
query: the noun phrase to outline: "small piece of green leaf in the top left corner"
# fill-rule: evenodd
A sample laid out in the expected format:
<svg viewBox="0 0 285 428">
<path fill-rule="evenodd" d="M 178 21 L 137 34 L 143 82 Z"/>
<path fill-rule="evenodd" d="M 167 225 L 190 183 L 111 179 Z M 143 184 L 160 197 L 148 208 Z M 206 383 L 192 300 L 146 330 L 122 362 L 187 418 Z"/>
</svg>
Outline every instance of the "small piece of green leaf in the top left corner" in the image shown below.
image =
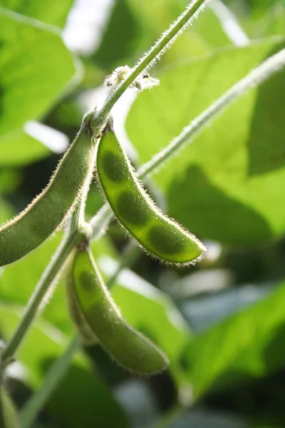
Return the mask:
<svg viewBox="0 0 285 428">
<path fill-rule="evenodd" d="M 0 0 L 0 6 L 39 21 L 63 27 L 73 0 Z"/>
</svg>

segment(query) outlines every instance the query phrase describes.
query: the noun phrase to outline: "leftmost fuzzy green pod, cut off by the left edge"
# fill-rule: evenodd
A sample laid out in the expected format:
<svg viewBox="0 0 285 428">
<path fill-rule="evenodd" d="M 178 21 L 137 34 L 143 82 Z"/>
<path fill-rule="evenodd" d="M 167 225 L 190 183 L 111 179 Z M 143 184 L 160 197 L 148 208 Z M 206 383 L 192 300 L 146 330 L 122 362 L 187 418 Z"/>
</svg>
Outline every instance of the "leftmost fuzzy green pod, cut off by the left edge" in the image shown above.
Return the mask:
<svg viewBox="0 0 285 428">
<path fill-rule="evenodd" d="M 0 266 L 41 245 L 68 218 L 93 174 L 95 143 L 88 124 L 58 163 L 47 187 L 15 218 L 0 228 Z"/>
</svg>

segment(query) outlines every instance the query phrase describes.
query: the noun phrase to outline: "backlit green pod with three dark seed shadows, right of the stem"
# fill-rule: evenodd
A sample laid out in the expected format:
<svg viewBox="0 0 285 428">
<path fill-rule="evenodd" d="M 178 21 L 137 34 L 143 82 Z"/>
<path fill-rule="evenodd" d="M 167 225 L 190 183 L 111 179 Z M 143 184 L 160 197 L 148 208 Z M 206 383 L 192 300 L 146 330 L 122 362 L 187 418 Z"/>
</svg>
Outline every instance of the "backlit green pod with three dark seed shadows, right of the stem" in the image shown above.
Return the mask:
<svg viewBox="0 0 285 428">
<path fill-rule="evenodd" d="M 110 207 L 142 248 L 167 263 L 180 265 L 201 257 L 204 245 L 156 207 L 135 176 L 110 125 L 98 144 L 96 164 Z"/>
</svg>

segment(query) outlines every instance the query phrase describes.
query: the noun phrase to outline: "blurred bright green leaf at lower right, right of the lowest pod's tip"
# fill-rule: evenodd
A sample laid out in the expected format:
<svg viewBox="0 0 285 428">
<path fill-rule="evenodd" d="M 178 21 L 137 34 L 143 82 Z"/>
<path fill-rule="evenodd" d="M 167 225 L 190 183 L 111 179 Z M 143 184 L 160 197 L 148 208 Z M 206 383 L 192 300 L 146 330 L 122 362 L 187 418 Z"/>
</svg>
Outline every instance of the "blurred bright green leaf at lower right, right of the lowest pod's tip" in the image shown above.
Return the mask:
<svg viewBox="0 0 285 428">
<path fill-rule="evenodd" d="M 190 341 L 181 358 L 195 397 L 284 367 L 285 285 Z"/>
</svg>

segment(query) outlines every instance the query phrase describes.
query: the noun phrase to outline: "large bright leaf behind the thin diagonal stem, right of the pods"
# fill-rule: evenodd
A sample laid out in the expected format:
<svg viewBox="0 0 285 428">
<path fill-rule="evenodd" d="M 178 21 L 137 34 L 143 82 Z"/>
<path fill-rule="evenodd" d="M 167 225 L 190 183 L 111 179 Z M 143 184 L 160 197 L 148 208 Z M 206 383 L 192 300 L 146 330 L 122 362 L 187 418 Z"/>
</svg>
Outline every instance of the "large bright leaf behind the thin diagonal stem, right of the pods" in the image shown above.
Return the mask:
<svg viewBox="0 0 285 428">
<path fill-rule="evenodd" d="M 284 39 L 271 38 L 162 74 L 160 87 L 142 93 L 128 116 L 127 131 L 140 160 L 162 150 L 224 91 L 283 47 Z M 153 176 L 170 215 L 199 238 L 251 245 L 284 233 L 284 96 L 281 72 L 220 114 Z"/>
</svg>

